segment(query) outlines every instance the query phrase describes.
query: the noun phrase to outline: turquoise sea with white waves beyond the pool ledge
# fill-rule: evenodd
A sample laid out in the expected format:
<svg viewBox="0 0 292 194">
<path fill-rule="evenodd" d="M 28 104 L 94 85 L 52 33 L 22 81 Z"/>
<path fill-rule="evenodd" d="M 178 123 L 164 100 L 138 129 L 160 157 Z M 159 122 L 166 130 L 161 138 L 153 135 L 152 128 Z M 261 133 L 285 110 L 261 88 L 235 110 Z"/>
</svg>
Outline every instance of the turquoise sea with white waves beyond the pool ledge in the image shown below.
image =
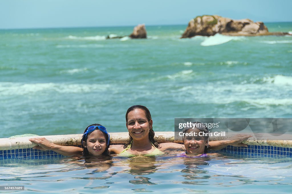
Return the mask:
<svg viewBox="0 0 292 194">
<path fill-rule="evenodd" d="M 266 23 L 290 32 L 292 22 Z M 147 106 L 154 131 L 176 117 L 292 117 L 292 36 L 180 39 L 185 25 L 0 30 L 0 137 L 126 131 Z"/>
</svg>

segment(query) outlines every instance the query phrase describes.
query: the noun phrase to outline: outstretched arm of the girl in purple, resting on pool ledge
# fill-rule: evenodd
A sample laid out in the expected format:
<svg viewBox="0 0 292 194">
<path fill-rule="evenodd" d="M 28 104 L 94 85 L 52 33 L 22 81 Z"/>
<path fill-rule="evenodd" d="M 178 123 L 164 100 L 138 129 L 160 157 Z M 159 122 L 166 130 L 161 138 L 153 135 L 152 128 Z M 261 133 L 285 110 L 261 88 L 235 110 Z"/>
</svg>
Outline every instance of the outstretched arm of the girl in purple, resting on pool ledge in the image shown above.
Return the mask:
<svg viewBox="0 0 292 194">
<path fill-rule="evenodd" d="M 237 146 L 237 147 L 247 147 L 246 144 L 241 143 L 241 141 L 247 140 L 248 138 L 252 137 L 252 135 L 248 134 L 237 134 L 233 137 L 227 138 L 225 140 L 220 141 L 210 141 L 209 142 L 209 150 L 221 150 L 226 146 Z"/>
</svg>

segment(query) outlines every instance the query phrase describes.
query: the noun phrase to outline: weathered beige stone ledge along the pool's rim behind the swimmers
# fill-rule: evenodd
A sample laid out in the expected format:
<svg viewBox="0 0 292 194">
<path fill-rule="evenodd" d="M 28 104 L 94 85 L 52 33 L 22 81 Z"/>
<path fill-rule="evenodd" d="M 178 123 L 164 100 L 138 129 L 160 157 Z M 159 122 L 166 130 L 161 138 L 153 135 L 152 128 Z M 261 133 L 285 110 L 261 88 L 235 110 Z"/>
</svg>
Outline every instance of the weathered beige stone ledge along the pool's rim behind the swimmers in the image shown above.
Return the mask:
<svg viewBox="0 0 292 194">
<path fill-rule="evenodd" d="M 111 142 L 113 144 L 123 144 L 128 140 L 127 132 L 120 133 L 109 133 L 111 137 Z M 228 133 L 225 137 L 210 137 L 210 141 L 216 140 L 224 140 L 226 138 L 232 137 L 238 133 Z M 80 146 L 81 138 L 83 134 L 71 134 L 71 135 L 51 135 L 51 136 L 31 136 L 31 137 L 16 137 L 16 138 L 0 138 L 0 150 L 14 150 L 14 149 L 22 149 L 22 148 L 32 148 L 37 146 L 36 143 L 29 141 L 29 138 L 39 138 L 45 137 L 50 142 L 62 145 L 62 146 Z M 248 140 L 243 141 L 242 143 L 248 145 L 259 145 L 259 146 L 279 146 L 279 147 L 287 147 L 292 148 L 292 135 L 285 136 L 279 135 L 272 136 L 270 134 L 251 134 L 253 137 L 248 138 Z M 283 136 L 285 140 L 283 140 Z M 183 143 L 181 137 L 175 138 L 175 133 L 172 131 L 158 131 L 155 132 L 155 138 L 158 143 L 165 142 L 176 142 Z M 176 140 L 175 140 L 176 139 Z"/>
</svg>

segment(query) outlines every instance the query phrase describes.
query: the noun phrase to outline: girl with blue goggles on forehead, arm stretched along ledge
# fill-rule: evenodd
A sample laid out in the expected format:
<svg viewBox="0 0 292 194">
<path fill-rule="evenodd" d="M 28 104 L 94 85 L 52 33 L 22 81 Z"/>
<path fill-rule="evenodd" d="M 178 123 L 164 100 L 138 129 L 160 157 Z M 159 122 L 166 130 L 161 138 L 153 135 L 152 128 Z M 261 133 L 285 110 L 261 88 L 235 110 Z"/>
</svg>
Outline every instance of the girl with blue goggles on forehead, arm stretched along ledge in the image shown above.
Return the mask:
<svg viewBox="0 0 292 194">
<path fill-rule="evenodd" d="M 37 143 L 39 146 L 34 149 L 53 150 L 62 155 L 75 155 L 83 153 L 84 156 L 108 155 L 110 137 L 105 127 L 100 124 L 92 124 L 86 127 L 82 136 L 82 148 L 75 146 L 59 146 L 49 142 L 46 138 L 30 138 L 29 141 Z"/>
</svg>

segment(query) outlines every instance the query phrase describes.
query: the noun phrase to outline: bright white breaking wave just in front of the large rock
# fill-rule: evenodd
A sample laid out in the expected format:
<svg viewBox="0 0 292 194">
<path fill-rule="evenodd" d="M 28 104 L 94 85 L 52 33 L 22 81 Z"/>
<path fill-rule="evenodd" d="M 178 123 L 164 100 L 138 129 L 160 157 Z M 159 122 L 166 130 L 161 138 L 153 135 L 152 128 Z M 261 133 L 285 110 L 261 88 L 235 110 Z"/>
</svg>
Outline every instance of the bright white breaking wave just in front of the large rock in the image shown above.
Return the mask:
<svg viewBox="0 0 292 194">
<path fill-rule="evenodd" d="M 232 37 L 232 36 L 225 36 L 222 34 L 215 34 L 214 36 L 208 37 L 203 42 L 201 42 L 201 46 L 213 46 L 223 44 L 229 41 L 243 41 L 245 37 Z"/>
</svg>

